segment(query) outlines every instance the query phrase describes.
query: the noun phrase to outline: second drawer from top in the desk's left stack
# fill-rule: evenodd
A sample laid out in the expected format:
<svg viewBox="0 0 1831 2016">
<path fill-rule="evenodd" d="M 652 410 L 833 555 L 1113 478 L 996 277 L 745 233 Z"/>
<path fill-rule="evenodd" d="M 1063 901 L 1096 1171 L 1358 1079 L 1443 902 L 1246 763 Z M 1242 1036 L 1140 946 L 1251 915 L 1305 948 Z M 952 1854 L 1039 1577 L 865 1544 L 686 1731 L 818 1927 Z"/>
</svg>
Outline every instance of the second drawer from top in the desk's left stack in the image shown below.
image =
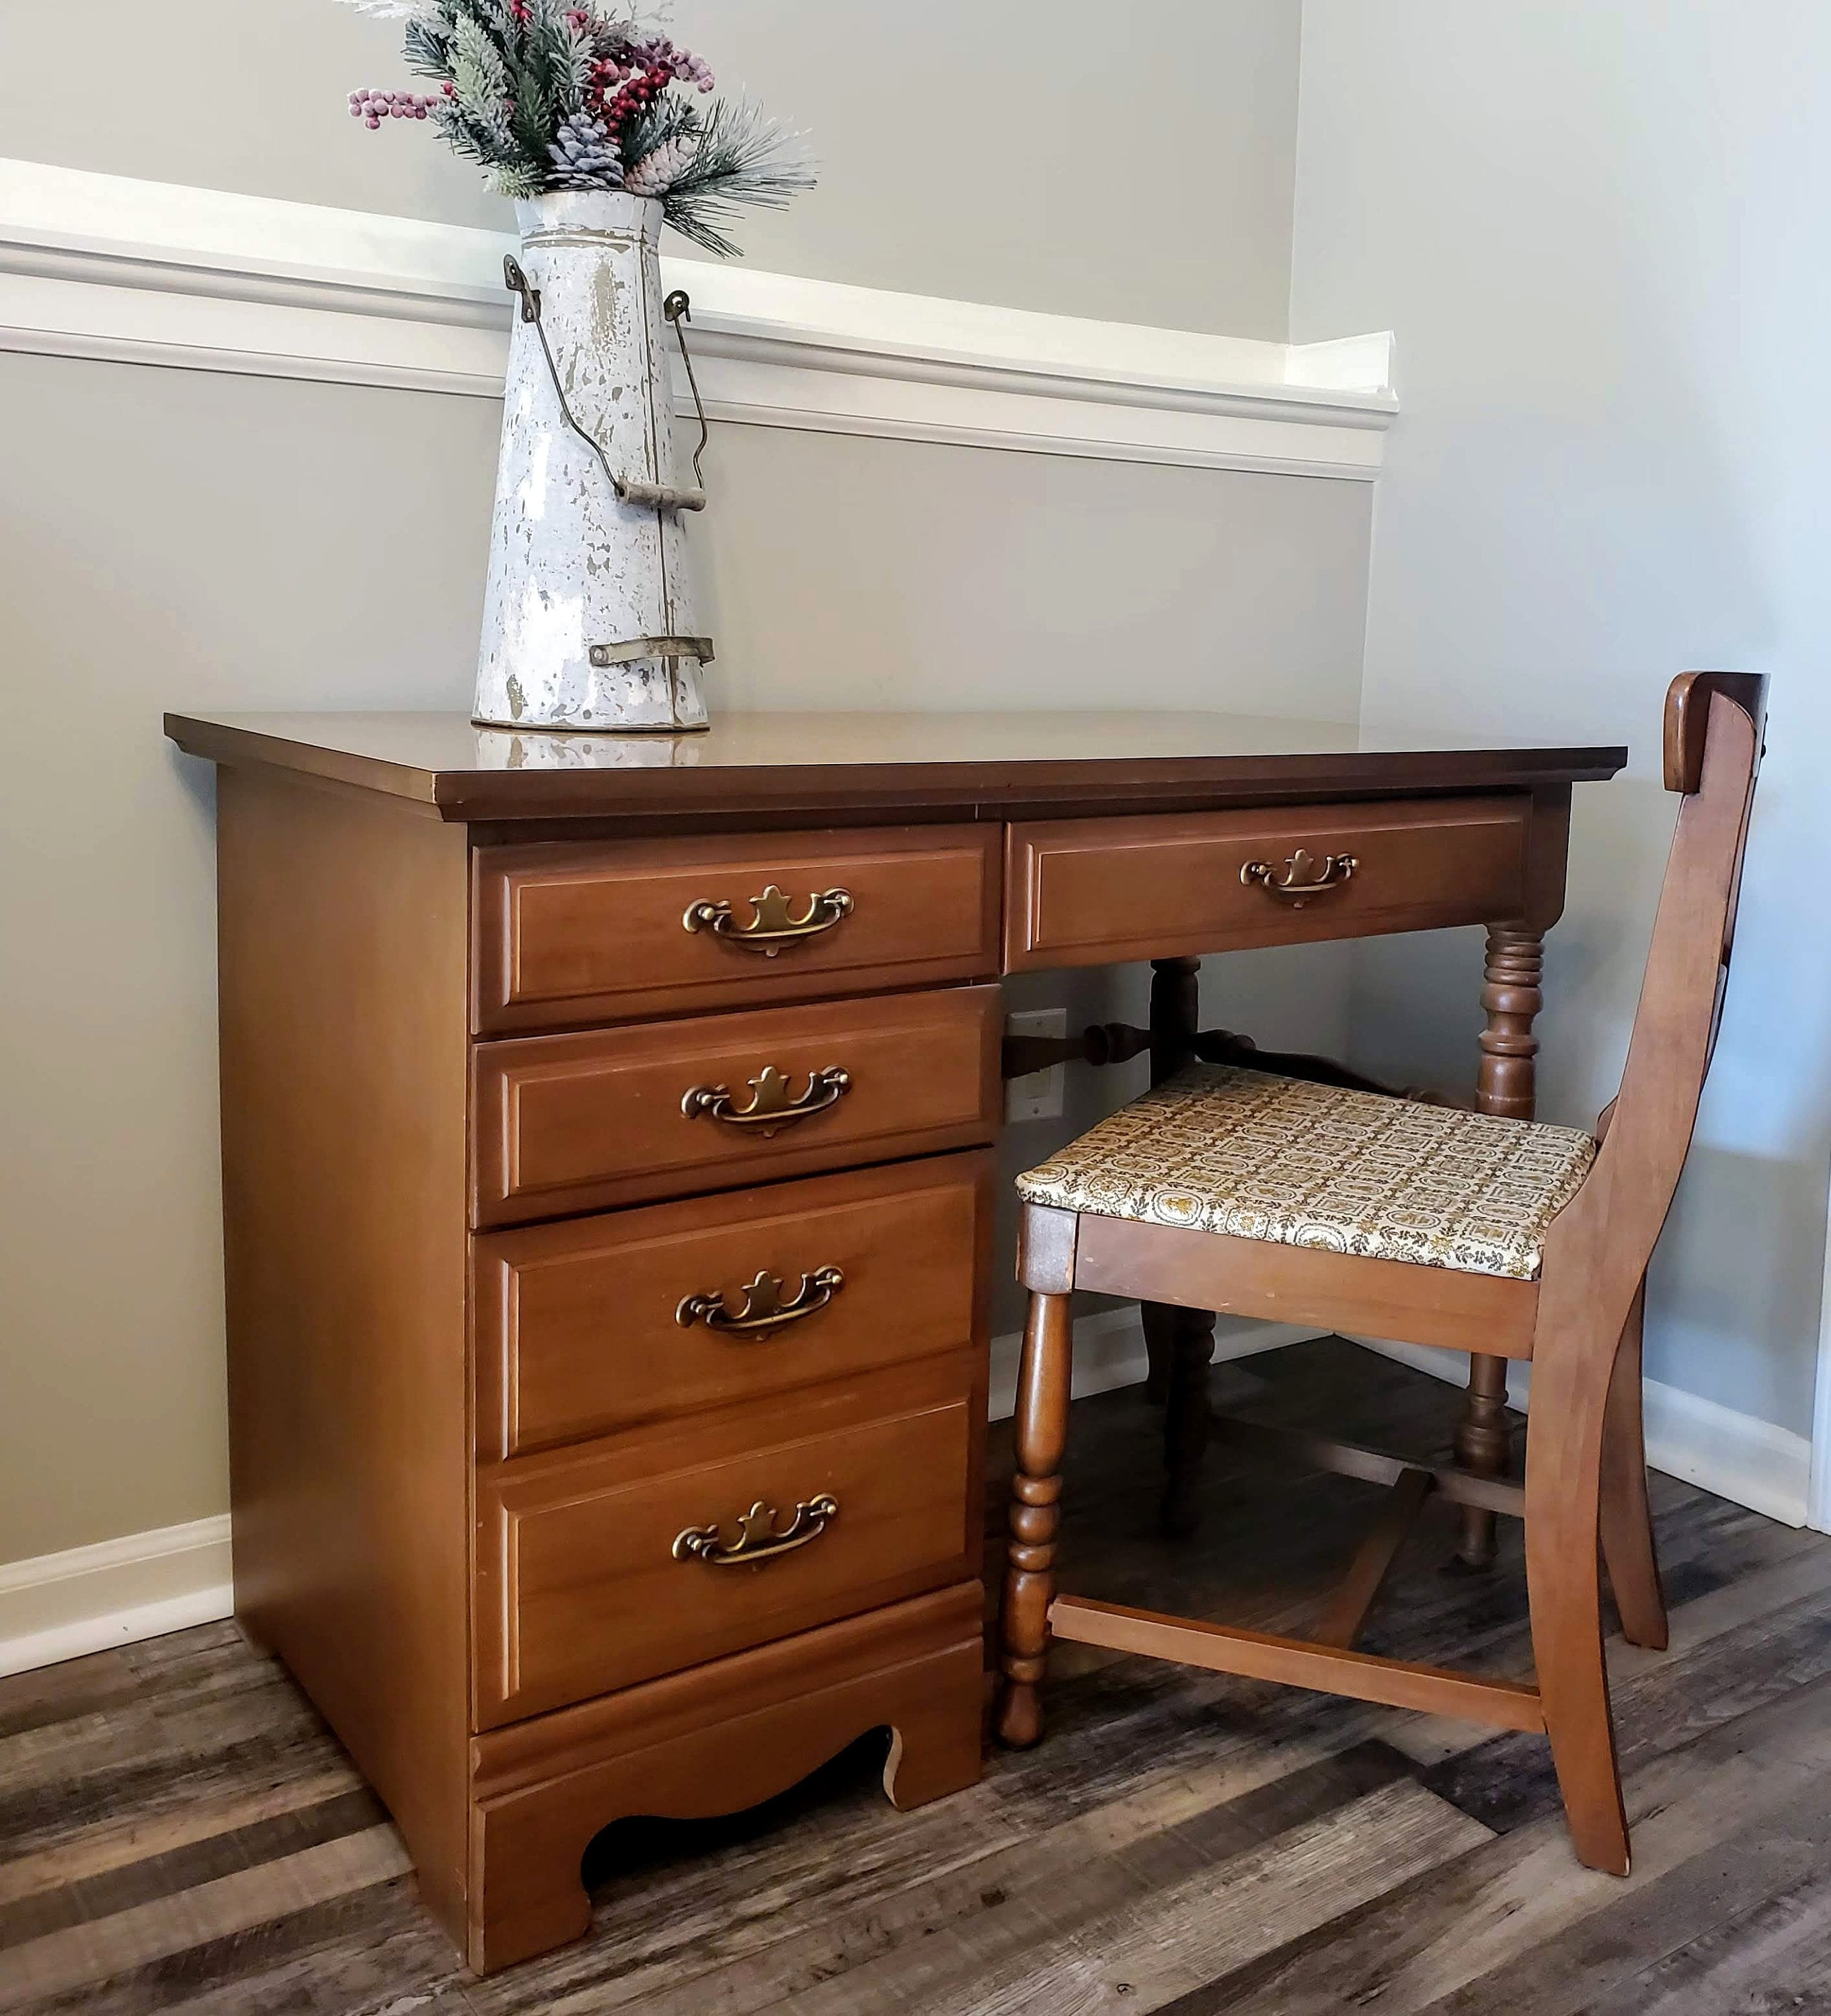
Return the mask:
<svg viewBox="0 0 1831 2016">
<path fill-rule="evenodd" d="M 982 1145 L 998 1030 L 988 986 L 478 1044 L 476 1224 Z"/>
</svg>

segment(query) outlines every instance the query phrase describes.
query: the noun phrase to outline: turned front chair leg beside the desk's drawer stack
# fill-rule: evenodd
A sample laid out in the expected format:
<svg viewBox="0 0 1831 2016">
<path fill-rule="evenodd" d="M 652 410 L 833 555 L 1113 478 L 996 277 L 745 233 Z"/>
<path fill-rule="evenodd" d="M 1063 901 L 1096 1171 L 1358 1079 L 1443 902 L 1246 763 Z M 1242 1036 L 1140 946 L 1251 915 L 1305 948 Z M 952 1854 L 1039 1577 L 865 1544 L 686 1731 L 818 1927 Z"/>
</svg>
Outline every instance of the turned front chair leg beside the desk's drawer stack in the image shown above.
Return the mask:
<svg viewBox="0 0 1831 2016">
<path fill-rule="evenodd" d="M 998 1740 L 1024 1750 L 1043 1734 L 1039 1685 L 1049 1667 L 1049 1603 L 1061 1524 L 1061 1460 L 1069 1439 L 1075 1325 L 1065 1294 L 1032 1294 L 1016 1381 L 1016 1476 L 1010 1480 L 1010 1550 L 1000 1639 L 1004 1687 Z"/>
</svg>

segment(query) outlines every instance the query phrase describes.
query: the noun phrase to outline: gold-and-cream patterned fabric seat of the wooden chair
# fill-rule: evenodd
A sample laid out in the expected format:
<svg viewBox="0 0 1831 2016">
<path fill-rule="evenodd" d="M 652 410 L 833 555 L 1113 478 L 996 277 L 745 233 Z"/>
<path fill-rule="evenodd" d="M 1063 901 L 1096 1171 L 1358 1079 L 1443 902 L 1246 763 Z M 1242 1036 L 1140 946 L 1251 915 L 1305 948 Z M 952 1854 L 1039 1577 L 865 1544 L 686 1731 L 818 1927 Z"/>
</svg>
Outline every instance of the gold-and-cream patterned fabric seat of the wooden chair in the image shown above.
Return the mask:
<svg viewBox="0 0 1831 2016">
<path fill-rule="evenodd" d="M 1063 1212 L 1531 1280 L 1593 1159 L 1575 1127 L 1190 1064 L 1016 1187 Z"/>
</svg>

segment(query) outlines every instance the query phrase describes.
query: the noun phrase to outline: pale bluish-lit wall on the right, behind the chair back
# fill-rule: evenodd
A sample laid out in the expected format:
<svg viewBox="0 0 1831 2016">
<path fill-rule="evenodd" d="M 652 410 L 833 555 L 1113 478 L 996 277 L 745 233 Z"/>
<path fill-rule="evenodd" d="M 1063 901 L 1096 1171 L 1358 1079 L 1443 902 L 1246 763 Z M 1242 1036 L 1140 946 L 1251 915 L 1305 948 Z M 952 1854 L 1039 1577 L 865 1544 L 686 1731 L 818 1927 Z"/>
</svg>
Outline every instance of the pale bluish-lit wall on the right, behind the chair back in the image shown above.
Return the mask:
<svg viewBox="0 0 1831 2016">
<path fill-rule="evenodd" d="M 1674 800 L 1672 673 L 1773 673 L 1722 1040 L 1647 1369 L 1795 1433 L 1831 1159 L 1831 10 L 1307 0 L 1295 335 L 1395 329 L 1365 716 L 1627 742 L 1581 786 L 1547 1117 L 1619 1083 Z M 1357 960 L 1371 1068 L 1468 1056 L 1480 946 Z M 1831 1401 L 1831 1395 L 1827 1395 Z M 1831 1413 L 1827 1413 L 1831 1423 Z M 1821 1514 L 1823 1516 L 1823 1514 Z"/>
</svg>

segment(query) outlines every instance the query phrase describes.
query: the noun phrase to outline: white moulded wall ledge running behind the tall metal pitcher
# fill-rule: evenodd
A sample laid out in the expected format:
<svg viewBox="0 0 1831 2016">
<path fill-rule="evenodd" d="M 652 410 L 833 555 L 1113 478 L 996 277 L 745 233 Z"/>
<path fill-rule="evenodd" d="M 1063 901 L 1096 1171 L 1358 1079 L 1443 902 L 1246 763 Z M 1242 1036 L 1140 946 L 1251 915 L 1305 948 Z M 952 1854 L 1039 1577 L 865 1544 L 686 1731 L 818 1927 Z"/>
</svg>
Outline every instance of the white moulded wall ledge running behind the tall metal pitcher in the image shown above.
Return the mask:
<svg viewBox="0 0 1831 2016">
<path fill-rule="evenodd" d="M 0 159 L 0 351 L 500 399 L 510 250 Z M 663 260 L 663 284 L 692 292 L 706 409 L 746 425 L 1371 482 L 1397 405 L 1389 335 L 1270 343 L 710 260 Z"/>
</svg>

